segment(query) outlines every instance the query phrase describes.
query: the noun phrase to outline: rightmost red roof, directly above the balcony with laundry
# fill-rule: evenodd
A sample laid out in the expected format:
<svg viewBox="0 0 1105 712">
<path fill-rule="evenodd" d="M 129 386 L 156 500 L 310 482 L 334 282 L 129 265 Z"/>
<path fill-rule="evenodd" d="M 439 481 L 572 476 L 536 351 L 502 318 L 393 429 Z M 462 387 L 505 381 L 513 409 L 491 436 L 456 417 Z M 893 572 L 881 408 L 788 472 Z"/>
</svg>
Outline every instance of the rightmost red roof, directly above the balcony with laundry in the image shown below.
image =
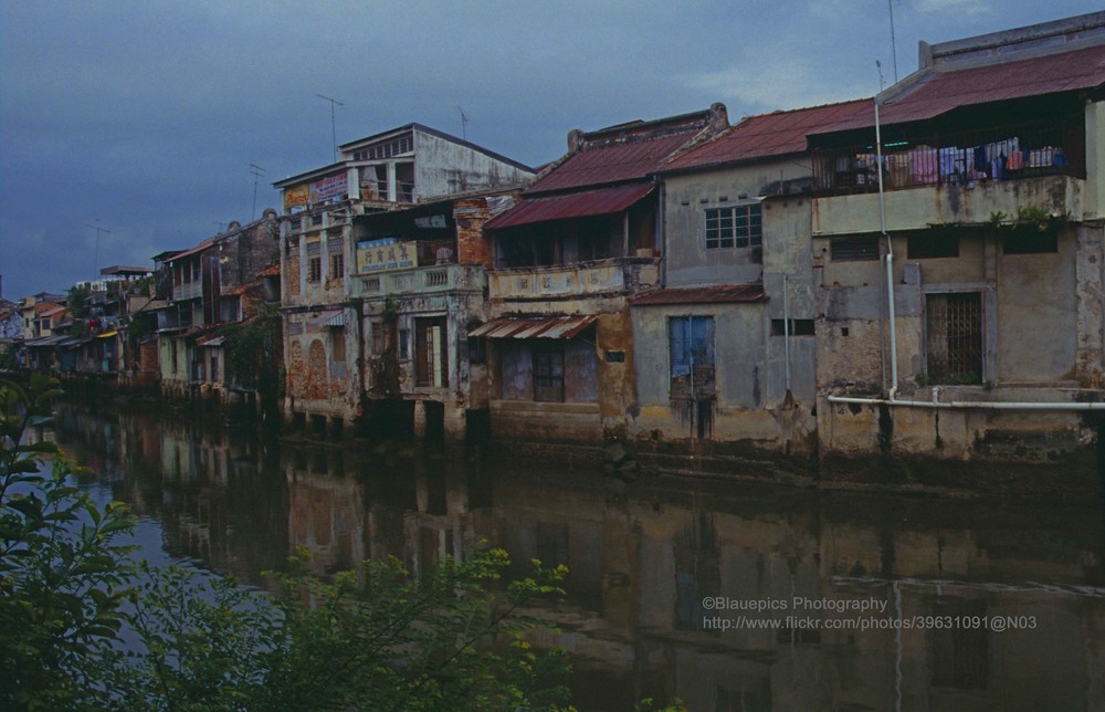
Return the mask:
<svg viewBox="0 0 1105 712">
<path fill-rule="evenodd" d="M 934 118 L 960 106 L 1059 94 L 1105 84 L 1105 44 L 959 70 L 930 71 L 880 108 L 880 123 L 905 124 Z M 874 126 L 874 114 L 860 115 L 815 133 Z"/>
</svg>

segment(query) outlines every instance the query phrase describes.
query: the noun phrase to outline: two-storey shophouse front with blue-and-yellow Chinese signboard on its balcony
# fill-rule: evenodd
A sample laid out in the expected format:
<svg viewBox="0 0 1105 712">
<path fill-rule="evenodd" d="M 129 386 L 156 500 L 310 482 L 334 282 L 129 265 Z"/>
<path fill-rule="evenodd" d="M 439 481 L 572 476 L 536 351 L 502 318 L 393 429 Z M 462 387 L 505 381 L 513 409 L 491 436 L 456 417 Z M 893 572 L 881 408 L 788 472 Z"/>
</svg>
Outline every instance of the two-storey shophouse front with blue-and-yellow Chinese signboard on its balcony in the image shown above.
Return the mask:
<svg viewBox="0 0 1105 712">
<path fill-rule="evenodd" d="M 493 262 L 483 224 L 517 193 L 477 192 L 354 218 L 350 296 L 365 335 L 369 428 L 459 441 L 470 413 L 486 412 L 485 358 L 469 339 L 486 321 Z"/>
</svg>

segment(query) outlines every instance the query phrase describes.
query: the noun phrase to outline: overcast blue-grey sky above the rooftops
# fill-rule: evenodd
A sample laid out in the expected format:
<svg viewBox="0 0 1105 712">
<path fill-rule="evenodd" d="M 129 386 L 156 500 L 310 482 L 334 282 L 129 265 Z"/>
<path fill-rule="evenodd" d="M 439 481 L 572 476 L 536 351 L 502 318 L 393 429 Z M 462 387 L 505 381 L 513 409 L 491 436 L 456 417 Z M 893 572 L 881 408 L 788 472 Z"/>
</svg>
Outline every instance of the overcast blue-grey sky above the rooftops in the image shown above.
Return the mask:
<svg viewBox="0 0 1105 712">
<path fill-rule="evenodd" d="M 343 103 L 338 144 L 418 122 L 536 166 L 565 151 L 572 128 L 714 102 L 736 123 L 871 96 L 876 60 L 887 85 L 895 57 L 904 78 L 918 40 L 1099 10 L 1102 0 L 0 0 L 3 296 L 150 265 L 276 207 L 272 181 L 333 160 L 332 106 L 317 94 Z M 255 208 L 251 164 L 264 170 Z"/>
</svg>

